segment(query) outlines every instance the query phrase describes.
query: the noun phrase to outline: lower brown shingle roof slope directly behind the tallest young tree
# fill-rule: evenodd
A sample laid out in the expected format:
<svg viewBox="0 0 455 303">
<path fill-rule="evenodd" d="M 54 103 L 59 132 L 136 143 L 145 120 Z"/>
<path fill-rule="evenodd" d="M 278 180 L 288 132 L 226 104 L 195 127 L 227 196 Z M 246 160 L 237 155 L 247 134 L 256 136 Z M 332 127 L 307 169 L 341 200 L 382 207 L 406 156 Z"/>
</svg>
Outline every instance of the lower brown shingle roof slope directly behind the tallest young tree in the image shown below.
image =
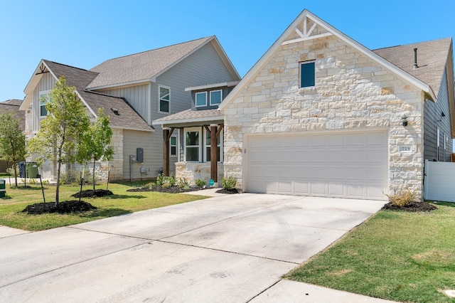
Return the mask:
<svg viewBox="0 0 455 303">
<path fill-rule="evenodd" d="M 68 86 L 76 87 L 79 95 L 95 113 L 97 113 L 100 107 L 104 107 L 105 114 L 109 115 L 111 127 L 151 130 L 149 124 L 142 119 L 124 98 L 102 95 L 97 92 L 85 90 L 85 87 L 87 87 L 87 85 L 97 76 L 97 73 L 49 60 L 43 61 L 55 77 L 60 78 L 60 76 L 65 75 L 66 84 Z M 110 108 L 117 109 L 119 115 L 115 115 Z"/>
</svg>

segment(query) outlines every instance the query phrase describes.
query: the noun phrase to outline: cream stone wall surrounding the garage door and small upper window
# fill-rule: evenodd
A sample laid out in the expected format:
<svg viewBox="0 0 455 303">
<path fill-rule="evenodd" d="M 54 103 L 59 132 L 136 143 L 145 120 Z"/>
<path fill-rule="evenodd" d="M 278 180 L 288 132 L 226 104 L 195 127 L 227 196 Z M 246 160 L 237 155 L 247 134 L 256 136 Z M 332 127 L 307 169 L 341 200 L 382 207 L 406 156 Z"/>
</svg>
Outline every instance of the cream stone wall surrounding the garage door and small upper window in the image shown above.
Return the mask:
<svg viewBox="0 0 455 303">
<path fill-rule="evenodd" d="M 306 60 L 316 62 L 316 86 L 299 88 Z M 244 134 L 388 129 L 390 193 L 411 188 L 422 197 L 423 102 L 421 90 L 335 36 L 280 46 L 224 109 L 225 176 L 242 186 Z"/>
</svg>

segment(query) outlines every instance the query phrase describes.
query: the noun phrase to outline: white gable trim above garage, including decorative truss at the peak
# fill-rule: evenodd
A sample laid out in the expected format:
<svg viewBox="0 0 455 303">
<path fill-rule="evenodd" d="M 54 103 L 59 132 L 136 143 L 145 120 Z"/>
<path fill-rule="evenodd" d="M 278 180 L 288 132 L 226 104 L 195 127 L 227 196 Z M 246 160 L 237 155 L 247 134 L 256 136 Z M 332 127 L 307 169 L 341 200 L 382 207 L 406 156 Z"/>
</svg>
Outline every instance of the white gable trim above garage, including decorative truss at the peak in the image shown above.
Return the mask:
<svg viewBox="0 0 455 303">
<path fill-rule="evenodd" d="M 393 65 L 388 60 L 385 60 L 380 55 L 373 53 L 373 51 L 365 48 L 365 46 L 361 45 L 357 41 L 354 41 L 352 38 L 346 36 L 341 31 L 338 31 L 336 28 L 331 26 L 330 24 L 323 21 L 321 18 L 311 14 L 310 11 L 304 9 L 304 11 L 299 14 L 299 16 L 291 23 L 291 25 L 282 33 L 281 36 L 274 42 L 274 44 L 267 50 L 264 55 L 257 61 L 255 65 L 248 71 L 247 75 L 240 81 L 240 83 L 232 90 L 230 95 L 223 100 L 220 104 L 220 110 L 223 110 L 226 105 L 228 105 L 231 100 L 233 100 L 237 94 L 250 82 L 250 79 L 254 77 L 254 75 L 261 70 L 262 66 L 264 66 L 269 58 L 272 58 L 274 53 L 280 48 L 282 45 L 287 45 L 291 43 L 296 43 L 300 41 L 311 40 L 314 38 L 321 38 L 325 36 L 336 36 L 338 39 L 346 43 L 348 46 L 358 50 L 363 55 L 367 56 L 371 60 L 374 60 L 378 64 L 382 65 L 387 70 L 390 70 L 392 73 L 397 75 L 398 77 L 402 78 L 403 80 L 407 81 L 416 87 L 419 87 L 420 90 L 423 90 L 427 96 L 432 99 L 436 100 L 432 87 L 430 87 L 427 83 L 422 82 L 418 78 L 410 75 L 409 73 L 405 72 L 401 68 L 398 68 L 396 65 Z"/>
</svg>

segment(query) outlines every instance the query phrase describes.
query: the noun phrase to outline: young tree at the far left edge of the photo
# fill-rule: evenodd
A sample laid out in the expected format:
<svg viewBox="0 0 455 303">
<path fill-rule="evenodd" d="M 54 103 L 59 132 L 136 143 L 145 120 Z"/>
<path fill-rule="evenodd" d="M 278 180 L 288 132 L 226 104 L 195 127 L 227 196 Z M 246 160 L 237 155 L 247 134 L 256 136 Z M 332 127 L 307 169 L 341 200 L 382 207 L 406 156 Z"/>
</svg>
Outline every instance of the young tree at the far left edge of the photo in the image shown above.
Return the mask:
<svg viewBox="0 0 455 303">
<path fill-rule="evenodd" d="M 0 159 L 12 162 L 16 187 L 16 164 L 26 157 L 26 136 L 21 130 L 20 123 L 14 112 L 4 112 L 0 115 Z"/>
</svg>

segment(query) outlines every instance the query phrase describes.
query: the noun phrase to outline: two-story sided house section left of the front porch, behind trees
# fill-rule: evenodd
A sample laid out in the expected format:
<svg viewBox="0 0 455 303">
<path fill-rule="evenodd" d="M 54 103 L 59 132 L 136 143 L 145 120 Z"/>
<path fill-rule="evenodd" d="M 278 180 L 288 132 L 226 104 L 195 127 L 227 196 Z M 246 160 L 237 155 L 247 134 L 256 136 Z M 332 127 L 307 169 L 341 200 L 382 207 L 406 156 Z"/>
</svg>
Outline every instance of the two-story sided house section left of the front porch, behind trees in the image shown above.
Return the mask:
<svg viewBox="0 0 455 303">
<path fill-rule="evenodd" d="M 114 180 L 157 176 L 163 163 L 163 140 L 161 129 L 151 122 L 191 108 L 191 92 L 185 87 L 240 79 L 215 36 L 114 58 L 91 70 L 41 60 L 21 105 L 29 136 L 47 115 L 41 97 L 61 75 L 76 87 L 92 117 L 100 107 L 109 115 L 115 151 L 109 179 Z M 44 175 L 55 171 L 50 164 L 43 170 Z"/>
</svg>

